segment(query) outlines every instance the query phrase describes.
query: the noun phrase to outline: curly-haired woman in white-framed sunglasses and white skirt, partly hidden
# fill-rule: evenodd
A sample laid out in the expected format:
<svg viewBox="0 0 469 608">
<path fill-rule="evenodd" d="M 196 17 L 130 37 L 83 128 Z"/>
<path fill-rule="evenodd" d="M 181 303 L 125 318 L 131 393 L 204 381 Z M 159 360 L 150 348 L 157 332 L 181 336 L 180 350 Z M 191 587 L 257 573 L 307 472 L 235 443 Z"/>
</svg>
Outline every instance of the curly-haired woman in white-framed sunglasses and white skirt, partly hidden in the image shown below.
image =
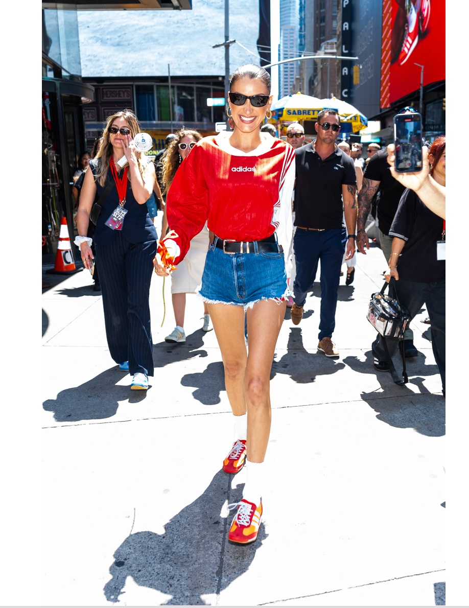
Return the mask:
<svg viewBox="0 0 469 608">
<path fill-rule="evenodd" d="M 181 129 L 176 132 L 175 136 L 168 145 L 167 153 L 163 160 L 163 181 L 165 184 L 165 193 L 167 194 L 176 171 L 186 158 L 187 154 L 192 150 L 195 144 L 202 139 L 198 131 L 189 129 Z M 161 236 L 164 237 L 168 227 L 166 209 L 163 212 L 163 222 L 161 228 Z M 202 273 L 204 271 L 205 257 L 210 243 L 210 233 L 205 224 L 202 230 L 193 235 L 190 241 L 189 251 L 184 260 L 179 261 L 178 269 L 171 275 L 171 297 L 173 300 L 173 311 L 176 320 L 176 327 L 165 337 L 166 342 L 186 342 L 186 333 L 184 332 L 184 313 L 186 311 L 186 294 L 193 294 L 202 282 Z M 207 305 L 204 302 L 204 324 L 203 331 L 213 330 L 210 325 L 210 316 Z"/>
</svg>

